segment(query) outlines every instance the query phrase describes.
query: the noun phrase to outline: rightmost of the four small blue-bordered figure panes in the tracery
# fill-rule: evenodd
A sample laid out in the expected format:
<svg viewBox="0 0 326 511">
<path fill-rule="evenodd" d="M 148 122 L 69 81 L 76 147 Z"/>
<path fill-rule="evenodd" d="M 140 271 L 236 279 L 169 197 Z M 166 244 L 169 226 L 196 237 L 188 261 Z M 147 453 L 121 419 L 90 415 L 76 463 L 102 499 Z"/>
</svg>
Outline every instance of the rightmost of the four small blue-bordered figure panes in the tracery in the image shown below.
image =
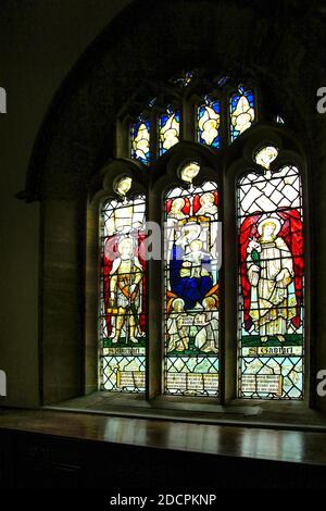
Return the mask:
<svg viewBox="0 0 326 511">
<path fill-rule="evenodd" d="M 254 121 L 254 98 L 252 90 L 242 86 L 230 97 L 230 139 L 234 141 L 241 133 L 250 128 Z"/>
</svg>

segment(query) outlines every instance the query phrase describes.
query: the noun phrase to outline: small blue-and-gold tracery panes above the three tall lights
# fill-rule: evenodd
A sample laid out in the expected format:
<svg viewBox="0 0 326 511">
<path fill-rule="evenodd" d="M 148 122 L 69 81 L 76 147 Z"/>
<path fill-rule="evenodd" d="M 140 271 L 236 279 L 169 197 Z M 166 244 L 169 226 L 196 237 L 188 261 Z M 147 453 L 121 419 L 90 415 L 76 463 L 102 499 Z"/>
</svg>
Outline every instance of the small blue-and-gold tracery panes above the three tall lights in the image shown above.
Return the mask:
<svg viewBox="0 0 326 511">
<path fill-rule="evenodd" d="M 197 95 L 199 92 L 195 91 L 195 87 L 198 87 L 199 90 L 203 89 L 203 84 L 206 87 L 208 82 L 200 83 L 201 79 L 199 75 L 188 71 L 177 74 L 168 80 L 170 84 L 166 84 L 168 95 L 171 95 L 170 103 L 166 103 L 166 99 L 158 94 L 143 104 L 141 114 L 131 125 L 129 133 L 129 155 L 131 158 L 148 165 L 153 158 L 161 157 L 183 140 L 181 110 L 180 107 L 177 107 L 180 104 L 183 104 L 183 109 L 187 105 L 187 110 L 189 110 L 185 120 L 196 119 L 193 140 L 215 149 L 220 149 L 222 144 L 227 141 L 233 142 L 252 125 L 255 121 L 253 90 L 239 85 L 236 91 L 229 96 L 229 87 L 225 87 L 229 77 L 210 78 L 211 92 L 202 97 L 201 104 L 193 107 L 187 92 L 189 89 L 193 89 L 193 94 Z M 283 122 L 279 116 L 277 119 L 279 119 L 277 122 Z M 188 130 L 188 121 L 185 122 L 184 129 Z M 226 129 L 221 129 L 221 125 Z"/>
</svg>

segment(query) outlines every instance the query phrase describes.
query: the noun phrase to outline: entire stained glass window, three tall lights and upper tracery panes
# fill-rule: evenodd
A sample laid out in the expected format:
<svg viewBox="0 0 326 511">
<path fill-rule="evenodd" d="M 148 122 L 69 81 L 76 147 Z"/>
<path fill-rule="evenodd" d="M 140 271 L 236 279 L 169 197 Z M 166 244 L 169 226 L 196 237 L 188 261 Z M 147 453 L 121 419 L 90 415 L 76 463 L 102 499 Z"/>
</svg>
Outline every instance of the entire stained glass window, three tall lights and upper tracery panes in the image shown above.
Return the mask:
<svg viewBox="0 0 326 511">
<path fill-rule="evenodd" d="M 175 154 L 171 160 L 166 152 L 183 140 L 184 133 L 187 136 L 180 154 L 188 148 L 193 153 L 193 142 L 198 142 L 198 158 L 208 165 L 208 175 L 214 165 L 205 161 L 205 154 L 217 154 L 208 148 L 221 152 L 228 142 L 241 145 L 238 137 L 258 120 L 265 121 L 253 87 L 239 85 L 227 75 L 186 71 L 166 85 L 166 90 L 160 85 L 146 104 L 140 107 L 139 102 L 141 115 L 133 124 L 128 140 L 129 155 L 147 165 L 153 157 L 165 154 L 170 176 L 178 151 L 172 151 Z M 195 98 L 201 99 L 197 102 Z M 285 119 L 273 115 L 273 123 L 276 128 L 275 123 L 284 124 Z M 249 142 L 250 132 L 247 137 Z M 227 188 L 236 187 L 237 197 L 237 394 L 240 398 L 300 400 L 304 395 L 301 177 L 296 166 L 280 165 L 279 147 L 262 144 L 253 154 L 251 171 L 233 184 L 228 184 L 231 177 L 223 176 Z M 152 165 L 153 173 L 160 167 Z M 221 189 L 217 194 L 213 175 L 205 180 L 201 172 L 200 163 L 186 160 L 176 169 L 179 185 L 164 188 L 163 387 L 164 394 L 174 396 L 218 396 L 220 382 L 236 377 L 220 375 Z M 123 177 L 115 188 L 120 198 L 108 201 L 102 210 L 102 388 L 141 392 L 147 342 L 142 251 L 146 201 L 143 196 L 129 198 L 130 186 L 130 178 Z M 152 205 L 149 214 L 155 214 Z M 108 253 L 112 247 L 111 260 Z M 230 307 L 225 303 L 228 310 Z M 153 345 L 156 341 L 149 339 Z M 226 359 L 234 357 L 230 349 L 225 346 Z"/>
</svg>

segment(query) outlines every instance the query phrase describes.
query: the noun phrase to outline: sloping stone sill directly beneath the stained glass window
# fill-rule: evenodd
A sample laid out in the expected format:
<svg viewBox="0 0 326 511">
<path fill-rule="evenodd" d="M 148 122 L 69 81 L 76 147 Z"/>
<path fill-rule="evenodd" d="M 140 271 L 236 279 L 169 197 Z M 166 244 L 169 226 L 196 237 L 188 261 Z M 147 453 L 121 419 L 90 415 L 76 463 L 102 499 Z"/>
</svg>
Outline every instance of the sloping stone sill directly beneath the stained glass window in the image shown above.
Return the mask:
<svg viewBox="0 0 326 511">
<path fill-rule="evenodd" d="M 147 401 L 142 396 L 93 392 L 43 407 L 46 410 L 98 415 L 158 419 L 201 424 L 326 432 L 326 416 L 294 401 L 234 400 L 222 406 L 214 399 L 162 396 Z"/>
</svg>

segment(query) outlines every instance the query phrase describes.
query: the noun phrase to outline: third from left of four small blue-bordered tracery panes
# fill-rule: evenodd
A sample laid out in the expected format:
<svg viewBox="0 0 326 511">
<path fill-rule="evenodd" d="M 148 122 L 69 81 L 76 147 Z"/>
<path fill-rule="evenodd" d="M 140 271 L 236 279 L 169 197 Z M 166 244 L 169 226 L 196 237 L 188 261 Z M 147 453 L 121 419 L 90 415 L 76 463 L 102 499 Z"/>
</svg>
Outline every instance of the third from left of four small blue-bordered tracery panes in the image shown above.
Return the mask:
<svg viewBox="0 0 326 511">
<path fill-rule="evenodd" d="M 205 98 L 198 108 L 198 141 L 214 148 L 220 148 L 220 101 Z"/>
</svg>

